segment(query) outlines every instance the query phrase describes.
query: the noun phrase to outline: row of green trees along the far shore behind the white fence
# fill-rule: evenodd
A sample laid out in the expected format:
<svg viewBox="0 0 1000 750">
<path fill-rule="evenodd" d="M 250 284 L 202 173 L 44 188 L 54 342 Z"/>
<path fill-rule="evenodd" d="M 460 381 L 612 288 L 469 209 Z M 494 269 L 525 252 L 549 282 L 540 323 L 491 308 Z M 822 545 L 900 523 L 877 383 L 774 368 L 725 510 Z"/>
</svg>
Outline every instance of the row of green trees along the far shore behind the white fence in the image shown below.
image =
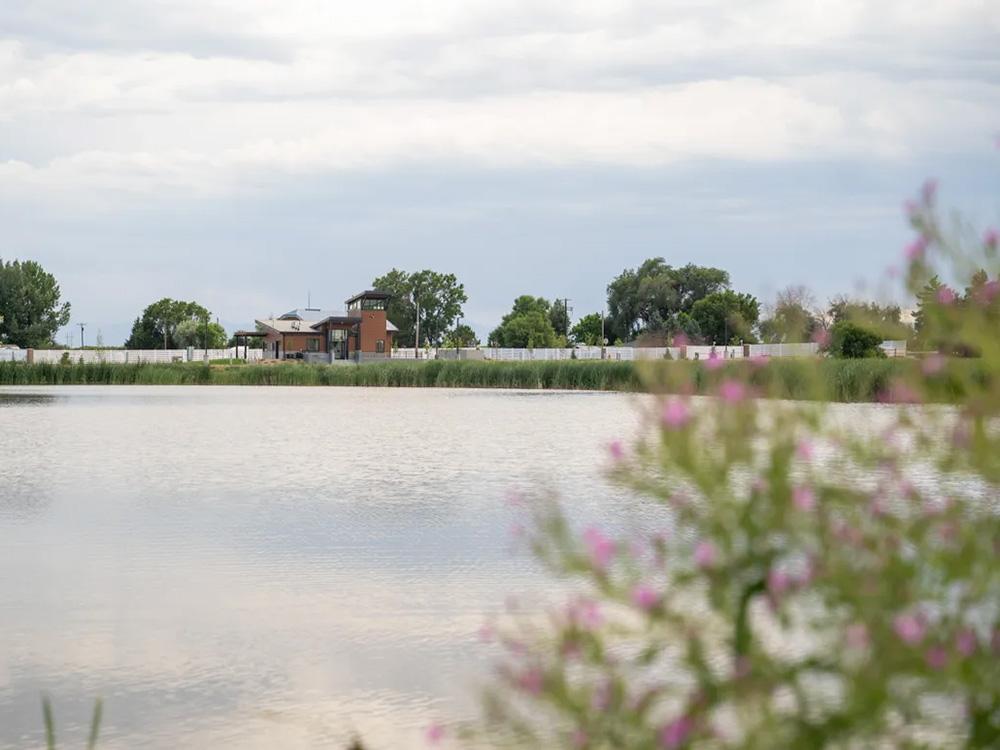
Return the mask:
<svg viewBox="0 0 1000 750">
<path fill-rule="evenodd" d="M 511 310 L 480 342 L 463 322 L 468 302 L 455 274 L 430 269 L 391 269 L 372 287 L 391 295 L 387 314 L 398 328 L 401 347 L 468 347 L 486 343 L 512 348 L 624 344 L 667 346 L 681 341 L 701 344 L 797 343 L 821 341 L 838 352 L 878 352 L 883 340 L 907 340 L 923 349 L 947 349 L 948 342 L 927 340 L 928 305 L 963 305 L 989 296 L 997 280 L 977 271 L 962 291 L 934 277 L 917 295 L 913 323 L 903 320 L 895 304 L 880 304 L 845 295 L 817 305 L 808 289 L 790 286 L 773 302 L 761 304 L 752 294 L 732 289 L 721 268 L 688 263 L 672 266 L 650 258 L 626 268 L 607 285 L 605 310 L 590 312 L 574 323 L 568 300 L 530 294 L 515 298 Z M 67 325 L 70 304 L 62 302 L 52 274 L 34 261 L 0 260 L 0 344 L 22 348 L 52 346 Z M 1000 298 L 989 297 L 1000 306 Z M 135 319 L 125 342 L 129 349 L 222 348 L 232 344 L 225 329 L 205 306 L 160 299 Z"/>
</svg>

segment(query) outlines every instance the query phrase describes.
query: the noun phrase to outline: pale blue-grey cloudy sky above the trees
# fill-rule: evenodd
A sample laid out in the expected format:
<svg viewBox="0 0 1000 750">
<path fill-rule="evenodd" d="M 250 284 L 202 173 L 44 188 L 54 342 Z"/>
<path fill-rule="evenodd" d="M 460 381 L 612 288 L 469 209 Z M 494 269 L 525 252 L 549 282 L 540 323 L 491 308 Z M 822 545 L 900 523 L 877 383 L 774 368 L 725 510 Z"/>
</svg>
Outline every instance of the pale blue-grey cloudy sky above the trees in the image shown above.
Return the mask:
<svg viewBox="0 0 1000 750">
<path fill-rule="evenodd" d="M 456 274 L 481 335 L 654 256 L 906 304 L 926 178 L 1000 221 L 998 39 L 995 0 L 3 0 L 0 257 L 88 344 L 393 267 Z"/>
</svg>

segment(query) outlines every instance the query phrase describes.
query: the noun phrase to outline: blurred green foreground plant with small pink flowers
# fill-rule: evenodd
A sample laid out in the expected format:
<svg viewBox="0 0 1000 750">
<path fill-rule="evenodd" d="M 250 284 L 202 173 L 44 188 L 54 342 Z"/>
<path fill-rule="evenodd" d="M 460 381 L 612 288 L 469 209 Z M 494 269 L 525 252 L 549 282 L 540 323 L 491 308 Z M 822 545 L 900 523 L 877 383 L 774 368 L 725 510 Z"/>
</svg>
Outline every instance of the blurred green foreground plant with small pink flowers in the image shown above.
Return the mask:
<svg viewBox="0 0 1000 750">
<path fill-rule="evenodd" d="M 1000 747 L 997 235 L 946 240 L 934 202 L 928 184 L 908 207 L 907 283 L 977 285 L 923 314 L 981 366 L 935 354 L 861 411 L 757 398 L 763 360 L 705 363 L 714 399 L 658 398 L 611 456 L 662 528 L 620 538 L 536 511 L 533 549 L 578 593 L 498 628 L 486 741 Z M 942 388 L 957 406 L 922 405 Z"/>
</svg>

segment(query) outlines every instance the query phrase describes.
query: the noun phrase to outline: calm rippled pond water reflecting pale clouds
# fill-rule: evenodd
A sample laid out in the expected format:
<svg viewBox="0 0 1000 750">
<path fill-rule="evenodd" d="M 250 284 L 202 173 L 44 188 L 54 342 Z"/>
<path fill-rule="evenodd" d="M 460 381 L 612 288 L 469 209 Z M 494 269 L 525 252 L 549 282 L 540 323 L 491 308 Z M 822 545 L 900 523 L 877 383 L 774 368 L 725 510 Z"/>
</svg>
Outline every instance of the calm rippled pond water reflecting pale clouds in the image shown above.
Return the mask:
<svg viewBox="0 0 1000 750">
<path fill-rule="evenodd" d="M 0 747 L 422 745 L 469 716 L 476 633 L 546 582 L 512 489 L 580 518 L 641 503 L 602 478 L 621 394 L 0 388 Z"/>
</svg>

